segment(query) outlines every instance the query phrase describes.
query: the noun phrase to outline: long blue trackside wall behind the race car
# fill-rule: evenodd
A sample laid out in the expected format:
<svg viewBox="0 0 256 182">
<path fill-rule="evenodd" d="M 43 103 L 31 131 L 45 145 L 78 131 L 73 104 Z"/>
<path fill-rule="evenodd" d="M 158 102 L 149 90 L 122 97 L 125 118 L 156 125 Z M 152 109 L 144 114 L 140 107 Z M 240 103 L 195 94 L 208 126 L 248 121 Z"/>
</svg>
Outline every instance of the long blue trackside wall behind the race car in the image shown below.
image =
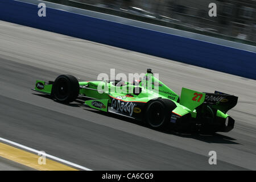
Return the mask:
<svg viewBox="0 0 256 182">
<path fill-rule="evenodd" d="M 256 53 L 13 0 L 0 1 L 0 19 L 256 80 Z M 0 40 L 1 41 L 1 40 Z"/>
</svg>

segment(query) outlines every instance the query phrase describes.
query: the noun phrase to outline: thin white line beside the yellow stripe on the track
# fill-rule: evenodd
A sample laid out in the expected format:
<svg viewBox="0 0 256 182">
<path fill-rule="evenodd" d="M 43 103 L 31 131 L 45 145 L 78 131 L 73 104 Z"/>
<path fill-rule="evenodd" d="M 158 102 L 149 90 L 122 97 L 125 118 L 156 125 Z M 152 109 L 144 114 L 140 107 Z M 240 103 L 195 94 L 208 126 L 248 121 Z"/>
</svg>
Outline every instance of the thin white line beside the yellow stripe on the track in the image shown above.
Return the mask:
<svg viewBox="0 0 256 182">
<path fill-rule="evenodd" d="M 23 146 L 22 144 L 19 144 L 19 143 L 16 143 L 16 142 L 12 142 L 11 140 L 7 140 L 7 139 L 1 138 L 1 137 L 0 137 L 0 140 L 5 142 L 5 143 L 12 144 L 13 146 L 17 146 L 19 148 L 23 148 L 25 150 L 28 150 L 28 151 L 31 151 L 31 152 L 34 152 L 34 153 L 37 153 L 37 154 L 41 154 L 42 153 L 42 152 L 40 152 L 38 150 L 35 150 L 33 148 Z M 80 165 L 72 163 L 72 162 L 68 162 L 67 160 L 60 159 L 60 158 L 57 158 L 57 157 L 49 155 L 49 154 L 44 154 L 44 155 L 46 155 L 47 158 L 59 161 L 59 162 L 64 163 L 64 164 L 68 164 L 69 166 L 73 166 L 73 167 L 76 167 L 76 168 L 79 168 L 79 169 L 83 169 L 85 171 L 93 171 L 92 169 L 86 168 L 84 166 L 80 166 Z"/>
</svg>

